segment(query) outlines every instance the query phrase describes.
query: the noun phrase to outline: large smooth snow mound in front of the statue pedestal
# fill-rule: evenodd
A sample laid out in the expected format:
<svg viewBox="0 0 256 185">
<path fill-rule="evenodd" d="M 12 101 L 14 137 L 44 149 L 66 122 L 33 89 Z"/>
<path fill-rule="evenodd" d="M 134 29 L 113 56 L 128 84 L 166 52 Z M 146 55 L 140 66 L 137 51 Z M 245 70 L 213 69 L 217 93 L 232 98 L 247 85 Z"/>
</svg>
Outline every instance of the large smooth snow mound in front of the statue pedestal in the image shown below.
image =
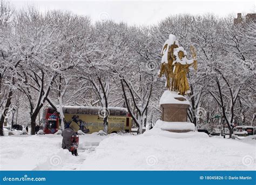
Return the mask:
<svg viewBox="0 0 256 185">
<path fill-rule="evenodd" d="M 255 144 L 255 143 L 254 143 Z M 114 135 L 87 156 L 81 170 L 254 170 L 255 145 L 151 129 L 142 135 Z M 246 157 L 250 163 L 245 163 Z"/>
</svg>

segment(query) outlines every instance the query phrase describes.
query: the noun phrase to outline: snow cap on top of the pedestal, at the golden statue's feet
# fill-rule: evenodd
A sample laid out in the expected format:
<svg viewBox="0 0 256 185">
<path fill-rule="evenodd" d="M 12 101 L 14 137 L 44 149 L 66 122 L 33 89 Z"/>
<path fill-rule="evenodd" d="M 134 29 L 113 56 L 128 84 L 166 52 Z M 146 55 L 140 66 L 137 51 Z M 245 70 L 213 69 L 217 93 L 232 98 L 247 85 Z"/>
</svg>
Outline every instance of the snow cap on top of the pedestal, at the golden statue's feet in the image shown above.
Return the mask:
<svg viewBox="0 0 256 185">
<path fill-rule="evenodd" d="M 184 99 L 184 101 L 180 101 L 178 99 Z M 187 101 L 187 99 L 183 96 L 178 94 L 178 92 L 174 91 L 165 91 L 163 95 L 160 98 L 159 104 L 186 104 L 190 105 L 190 102 Z"/>
</svg>

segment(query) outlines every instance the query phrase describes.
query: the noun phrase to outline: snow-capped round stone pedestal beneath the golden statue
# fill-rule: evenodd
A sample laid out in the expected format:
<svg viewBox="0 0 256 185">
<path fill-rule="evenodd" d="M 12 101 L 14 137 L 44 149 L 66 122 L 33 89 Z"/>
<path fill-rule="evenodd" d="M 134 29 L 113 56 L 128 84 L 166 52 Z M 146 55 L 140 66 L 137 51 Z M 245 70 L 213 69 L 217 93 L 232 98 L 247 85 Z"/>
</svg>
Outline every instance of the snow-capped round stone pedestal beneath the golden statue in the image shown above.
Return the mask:
<svg viewBox="0 0 256 185">
<path fill-rule="evenodd" d="M 155 127 L 170 132 L 194 131 L 194 124 L 187 122 L 187 108 L 190 102 L 174 91 L 165 91 L 160 98 L 161 120 Z"/>
</svg>

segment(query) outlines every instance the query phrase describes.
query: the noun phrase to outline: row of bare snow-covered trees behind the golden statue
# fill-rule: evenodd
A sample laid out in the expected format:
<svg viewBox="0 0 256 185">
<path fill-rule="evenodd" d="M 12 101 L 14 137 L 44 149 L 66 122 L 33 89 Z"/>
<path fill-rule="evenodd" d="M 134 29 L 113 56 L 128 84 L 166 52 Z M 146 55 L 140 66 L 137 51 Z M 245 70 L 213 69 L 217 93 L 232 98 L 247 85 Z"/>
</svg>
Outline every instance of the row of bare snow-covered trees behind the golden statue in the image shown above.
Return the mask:
<svg viewBox="0 0 256 185">
<path fill-rule="evenodd" d="M 188 76 L 190 121 L 197 124 L 201 107 L 211 117 L 221 114 L 230 128 L 253 118 L 255 24 L 213 15 L 172 16 L 147 27 L 91 23 L 70 12 L 14 11 L 3 1 L 0 11 L 0 135 L 14 109 L 18 124 L 31 124 L 35 134 L 47 105 L 60 114 L 62 128 L 63 105 L 127 107 L 142 133 L 160 117 L 165 80 L 157 71 L 170 33 L 186 50 L 197 49 L 198 71 Z"/>
</svg>

